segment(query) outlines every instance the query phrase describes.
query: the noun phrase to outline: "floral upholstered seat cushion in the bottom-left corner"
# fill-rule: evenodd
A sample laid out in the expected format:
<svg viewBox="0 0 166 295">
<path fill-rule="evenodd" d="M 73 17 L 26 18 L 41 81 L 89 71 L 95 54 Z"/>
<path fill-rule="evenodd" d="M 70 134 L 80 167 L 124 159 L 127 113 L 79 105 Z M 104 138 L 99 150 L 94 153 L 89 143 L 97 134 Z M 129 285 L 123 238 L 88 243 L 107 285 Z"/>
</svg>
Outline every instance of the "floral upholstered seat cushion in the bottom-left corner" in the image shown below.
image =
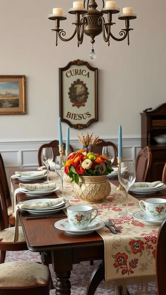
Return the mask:
<svg viewBox="0 0 166 295">
<path fill-rule="evenodd" d="M 14 261 L 0 264 L 0 290 L 47 286 L 50 278 L 49 268 L 37 262 Z"/>
</svg>

